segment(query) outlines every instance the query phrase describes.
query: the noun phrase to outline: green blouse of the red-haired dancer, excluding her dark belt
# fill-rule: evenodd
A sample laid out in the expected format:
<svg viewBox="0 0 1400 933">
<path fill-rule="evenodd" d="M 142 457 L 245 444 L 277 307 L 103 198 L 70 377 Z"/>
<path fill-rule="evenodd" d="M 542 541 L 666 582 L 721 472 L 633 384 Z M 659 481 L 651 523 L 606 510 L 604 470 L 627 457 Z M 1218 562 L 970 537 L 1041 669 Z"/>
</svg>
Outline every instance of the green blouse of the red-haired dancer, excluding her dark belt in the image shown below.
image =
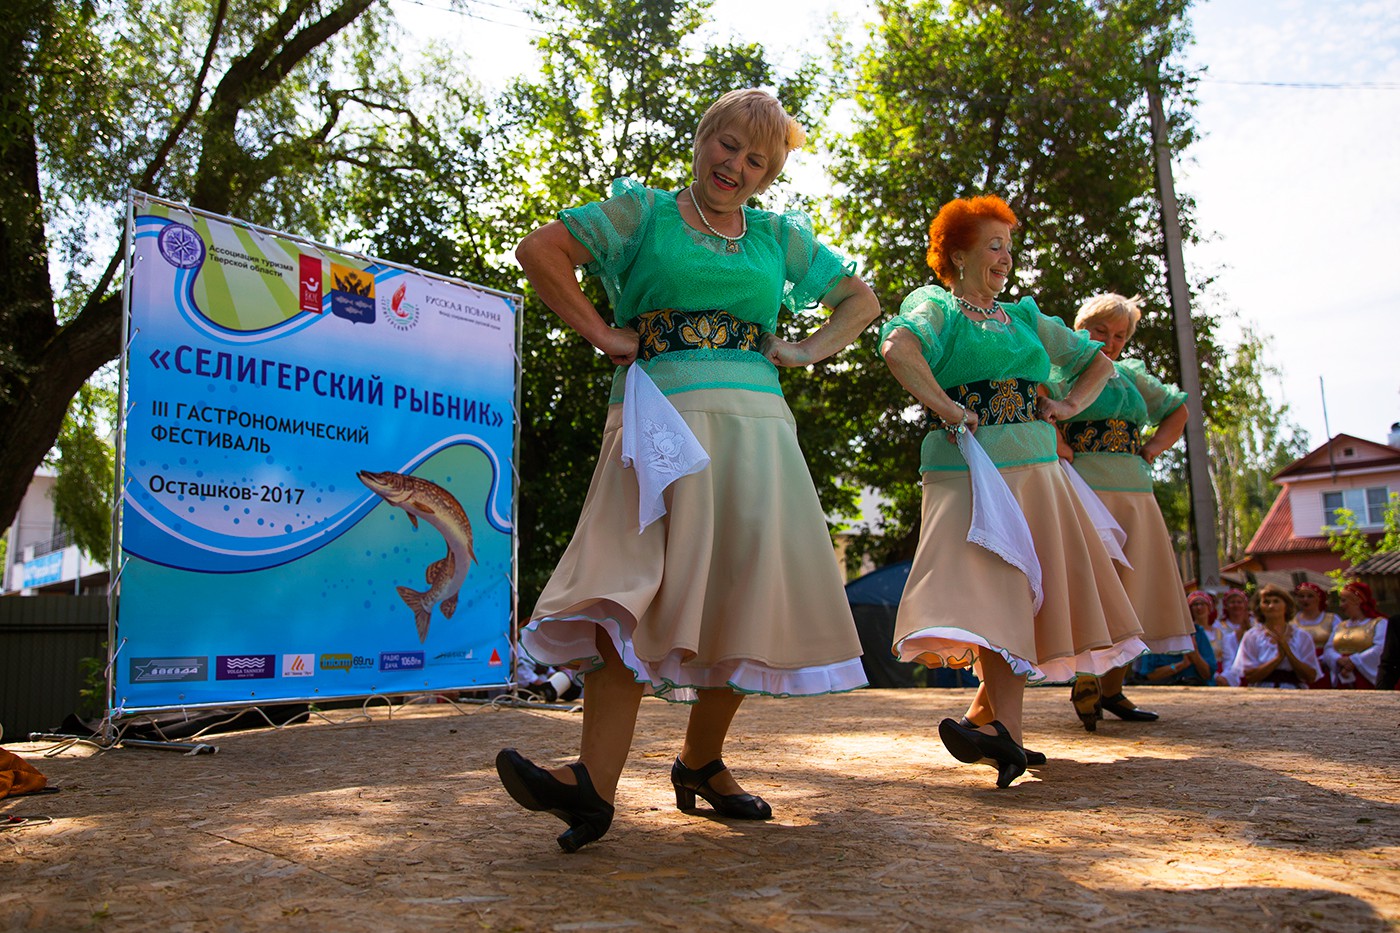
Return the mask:
<svg viewBox="0 0 1400 933">
<path fill-rule="evenodd" d="M 1001 308 L 1009 325 L 973 321 L 958 310 L 951 293 L 924 286 L 910 293 L 899 314 L 885 322 L 881 340 L 896 328 L 918 338 L 928 368 L 945 389 L 979 380 L 1072 381 L 1103 346 L 1060 318 L 1042 314 L 1029 296 L 1015 304 L 1001 303 Z M 1054 427 L 1047 422 L 987 424 L 977 429 L 977 440 L 997 466 L 1057 459 Z M 948 443 L 946 431 L 928 431 L 920 450 L 920 471 L 959 469 L 967 469 L 967 464 L 958 445 Z"/>
</svg>

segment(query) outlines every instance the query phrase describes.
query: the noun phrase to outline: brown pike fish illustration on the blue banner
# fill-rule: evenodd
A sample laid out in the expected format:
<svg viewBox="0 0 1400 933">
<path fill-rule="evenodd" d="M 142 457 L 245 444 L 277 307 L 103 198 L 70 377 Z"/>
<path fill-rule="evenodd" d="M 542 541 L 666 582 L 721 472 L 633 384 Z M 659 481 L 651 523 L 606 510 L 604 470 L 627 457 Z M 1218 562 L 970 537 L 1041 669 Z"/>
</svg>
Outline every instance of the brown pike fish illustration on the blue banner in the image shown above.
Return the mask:
<svg viewBox="0 0 1400 933">
<path fill-rule="evenodd" d="M 403 602 L 413 609 L 419 642 L 427 642 L 433 607 L 441 608 L 444 619 L 451 619 L 456 612 L 456 595 L 466 581 L 468 565 L 476 563 L 476 553 L 472 549 L 472 523 L 462 503 L 437 483 L 393 472 L 372 474 L 361 469 L 356 475 L 372 493 L 407 513 L 414 530 L 421 518 L 437 528 L 447 542 L 447 556 L 430 563 L 424 573 L 428 583 L 426 591 L 398 587 Z"/>
</svg>

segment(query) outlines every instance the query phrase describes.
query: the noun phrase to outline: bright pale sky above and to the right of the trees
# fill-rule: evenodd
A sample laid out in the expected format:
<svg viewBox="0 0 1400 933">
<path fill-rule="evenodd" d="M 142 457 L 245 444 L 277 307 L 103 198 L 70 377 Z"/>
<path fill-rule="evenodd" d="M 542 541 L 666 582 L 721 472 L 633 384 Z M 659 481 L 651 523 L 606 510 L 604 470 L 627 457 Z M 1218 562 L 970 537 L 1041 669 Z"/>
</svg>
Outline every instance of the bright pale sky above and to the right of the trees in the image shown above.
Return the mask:
<svg viewBox="0 0 1400 933">
<path fill-rule="evenodd" d="M 535 69 L 528 0 L 392 0 L 410 41 L 470 56 L 486 88 Z M 763 45 L 780 67 L 820 53 L 826 21 L 853 32 L 868 0 L 715 0 L 715 38 Z M 1191 66 L 1204 69 L 1200 140 L 1173 167 L 1205 235 L 1186 249 L 1229 346 L 1245 328 L 1270 340 L 1288 405 L 1310 445 L 1352 434 L 1386 443 L 1400 422 L 1400 3 L 1205 0 L 1190 14 Z M 820 167 L 797 153 L 804 191 Z M 1326 391 L 1326 420 L 1323 416 Z"/>
</svg>

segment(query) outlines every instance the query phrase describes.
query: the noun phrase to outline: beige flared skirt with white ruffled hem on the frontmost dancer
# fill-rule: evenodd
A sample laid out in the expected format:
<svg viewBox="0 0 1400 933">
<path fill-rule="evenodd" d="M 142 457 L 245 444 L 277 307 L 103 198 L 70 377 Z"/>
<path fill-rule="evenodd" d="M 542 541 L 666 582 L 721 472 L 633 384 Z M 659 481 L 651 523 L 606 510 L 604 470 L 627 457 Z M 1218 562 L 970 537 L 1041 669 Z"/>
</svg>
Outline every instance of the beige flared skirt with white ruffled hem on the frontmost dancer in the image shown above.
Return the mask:
<svg viewBox="0 0 1400 933">
<path fill-rule="evenodd" d="M 666 514 L 638 534 L 637 478 L 623 468 L 622 406 L 574 537 L 521 644 L 584 671 L 608 632 L 648 691 L 813 695 L 864 686 L 860 639 L 826 517 L 780 395 L 697 389 L 671 396 L 710 454 L 675 481 Z"/>
</svg>

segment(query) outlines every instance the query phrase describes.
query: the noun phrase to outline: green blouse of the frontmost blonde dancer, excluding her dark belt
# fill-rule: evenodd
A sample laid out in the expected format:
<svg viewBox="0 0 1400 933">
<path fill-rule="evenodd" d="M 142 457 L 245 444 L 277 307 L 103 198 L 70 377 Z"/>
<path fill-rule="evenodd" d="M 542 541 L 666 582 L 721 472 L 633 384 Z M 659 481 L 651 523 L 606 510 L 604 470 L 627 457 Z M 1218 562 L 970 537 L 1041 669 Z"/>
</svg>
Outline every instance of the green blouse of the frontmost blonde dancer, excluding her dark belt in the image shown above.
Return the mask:
<svg viewBox="0 0 1400 933">
<path fill-rule="evenodd" d="M 739 251 L 728 252 L 722 237 L 682 220 L 676 195 L 619 178 L 608 200 L 559 213 L 594 255 L 585 272 L 602 279 L 617 326 L 659 308 L 724 310 L 771 332 L 780 308 L 815 307 L 855 272 L 854 262 L 816 240 L 801 212 L 745 207 L 748 233 Z M 752 350 L 664 353 L 640 366 L 666 395 L 699 388 L 783 394 L 777 367 Z M 612 402 L 622 401 L 624 373 L 619 367 L 613 377 Z"/>
</svg>

